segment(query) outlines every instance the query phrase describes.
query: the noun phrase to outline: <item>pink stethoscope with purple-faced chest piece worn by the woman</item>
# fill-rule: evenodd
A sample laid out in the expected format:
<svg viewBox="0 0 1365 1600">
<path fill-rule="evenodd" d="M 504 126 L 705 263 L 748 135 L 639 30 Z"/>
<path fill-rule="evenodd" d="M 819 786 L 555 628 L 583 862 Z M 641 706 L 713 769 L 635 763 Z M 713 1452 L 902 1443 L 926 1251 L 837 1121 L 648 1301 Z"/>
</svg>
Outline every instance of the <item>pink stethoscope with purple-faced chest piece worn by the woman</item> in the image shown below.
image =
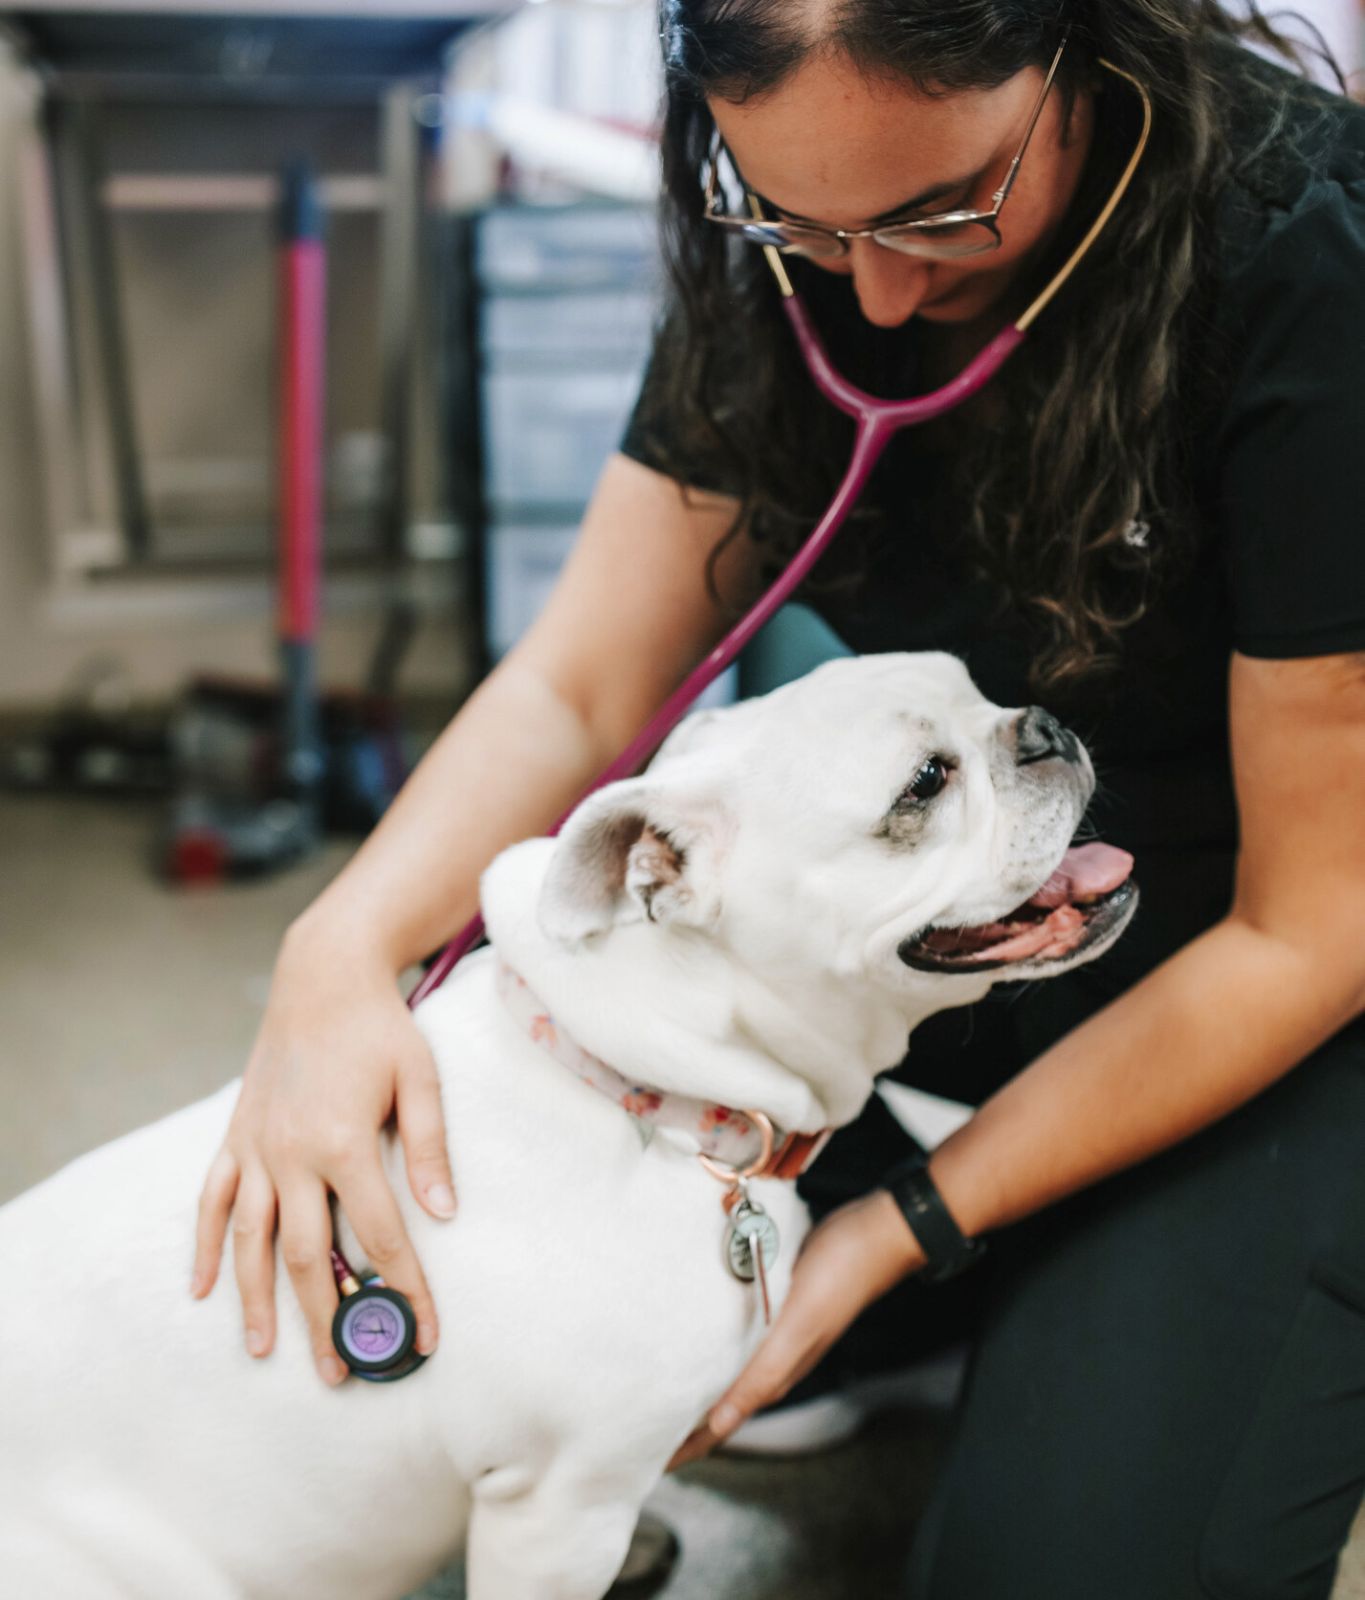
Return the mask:
<svg viewBox="0 0 1365 1600">
<path fill-rule="evenodd" d="M 815 531 L 795 554 L 781 578 L 778 578 L 771 589 L 768 589 L 768 592 L 757 602 L 757 605 L 754 605 L 743 621 L 739 621 L 730 634 L 725 635 L 706 661 L 703 661 L 701 666 L 698 666 L 683 680 L 683 683 L 674 690 L 667 701 L 664 701 L 645 728 L 642 728 L 637 738 L 630 741 L 616 760 L 598 773 L 587 789 L 582 790 L 578 800 L 574 800 L 555 826 L 549 829 L 546 835 L 547 838 L 554 838 L 558 834 L 568 818 L 573 816 L 578 806 L 589 795 L 603 789 L 606 784 L 616 782 L 619 778 L 632 776 L 640 766 L 643 766 L 643 763 L 682 722 L 693 701 L 696 701 L 696 698 L 703 694 L 720 677 L 720 674 L 735 662 L 744 646 L 776 614 L 776 611 L 786 605 L 792 594 L 795 594 L 797 587 L 805 581 L 810 570 L 829 547 L 835 533 L 839 533 L 843 526 L 850 510 L 856 506 L 872 469 L 877 466 L 882 451 L 891 438 L 895 438 L 895 435 L 906 427 L 915 427 L 917 424 L 930 422 L 949 411 L 955 411 L 957 406 L 979 394 L 1015 354 L 1015 350 L 1024 342 L 1024 336 L 1032 323 L 1042 315 L 1072 272 L 1075 272 L 1080 266 L 1080 261 L 1088 254 L 1091 245 L 1096 238 L 1099 238 L 1111 216 L 1117 210 L 1119 202 L 1123 198 L 1123 194 L 1133 181 L 1133 174 L 1138 170 L 1138 163 L 1143 160 L 1143 154 L 1152 131 L 1152 101 L 1146 88 L 1131 74 L 1123 72 L 1122 67 L 1115 67 L 1111 61 L 1104 61 L 1101 58 L 1099 64 L 1131 83 L 1143 99 L 1143 130 L 1136 147 L 1128 158 L 1128 165 L 1123 168 L 1123 173 L 1119 178 L 1114 192 L 1109 195 L 1109 200 L 1104 203 L 1099 216 L 1090 226 L 1088 232 L 1075 246 L 1056 277 L 1053 277 L 1048 286 L 1021 317 L 1018 317 L 1002 333 L 995 334 L 995 338 L 986 346 L 984 350 L 981 350 L 970 366 L 959 373 L 952 382 L 944 384 L 943 389 L 936 389 L 933 394 L 919 395 L 912 400 L 880 400 L 877 395 L 869 395 L 866 390 L 848 382 L 848 379 L 834 366 L 826 354 L 824 346 L 815 331 L 815 325 L 810 320 L 810 312 L 805 309 L 797 296 L 797 291 L 792 288 L 792 282 L 783 266 L 779 251 L 773 245 L 763 246 L 763 254 L 767 256 L 773 277 L 778 280 L 778 288 L 783 293 L 783 310 L 787 314 L 787 320 L 795 331 L 797 344 L 800 346 L 802 357 L 805 358 L 811 379 L 826 400 L 839 406 L 840 411 L 851 416 L 858 424 L 853 453 L 843 474 L 843 482 L 839 485 L 834 499 L 829 502 L 829 507 Z M 427 995 L 440 989 L 459 960 L 472 949 L 474 944 L 477 944 L 482 934 L 483 918 L 477 915 L 440 952 L 426 976 L 408 995 L 408 1006 L 418 1006 L 427 998 Z M 378 1278 L 371 1278 L 368 1285 L 358 1285 L 355 1274 L 341 1251 L 333 1248 L 331 1256 L 338 1286 L 344 1296 L 349 1296 L 342 1299 L 338 1307 L 336 1323 L 333 1325 L 333 1342 L 336 1344 L 342 1360 L 352 1368 L 352 1371 L 355 1371 L 357 1378 L 378 1381 L 384 1381 L 387 1378 L 405 1378 L 422 1362 L 422 1357 L 416 1355 L 411 1349 L 413 1315 L 411 1309 L 406 1306 L 406 1299 L 403 1299 L 397 1290 L 382 1288 L 381 1280 Z M 376 1325 L 376 1333 L 371 1338 L 376 1346 L 384 1346 L 384 1349 L 390 1352 L 400 1350 L 402 1354 L 395 1354 L 392 1365 L 387 1365 L 386 1357 L 381 1355 L 376 1366 L 373 1362 L 374 1350 L 371 1350 L 366 1352 L 363 1363 L 357 1366 L 354 1350 L 355 1341 L 354 1338 L 347 1339 L 342 1331 L 344 1314 L 347 1312 L 347 1307 L 352 1307 L 352 1323 L 357 1322 L 357 1317 L 363 1318 L 365 1312 L 360 1307 L 360 1301 L 366 1294 L 376 1291 L 382 1294 L 382 1304 L 373 1309 L 371 1322 Z M 403 1330 L 406 1336 L 400 1336 L 400 1328 L 397 1325 L 397 1312 L 403 1309 L 406 1309 L 406 1328 Z M 387 1336 L 378 1330 L 387 1330 Z"/>
</svg>

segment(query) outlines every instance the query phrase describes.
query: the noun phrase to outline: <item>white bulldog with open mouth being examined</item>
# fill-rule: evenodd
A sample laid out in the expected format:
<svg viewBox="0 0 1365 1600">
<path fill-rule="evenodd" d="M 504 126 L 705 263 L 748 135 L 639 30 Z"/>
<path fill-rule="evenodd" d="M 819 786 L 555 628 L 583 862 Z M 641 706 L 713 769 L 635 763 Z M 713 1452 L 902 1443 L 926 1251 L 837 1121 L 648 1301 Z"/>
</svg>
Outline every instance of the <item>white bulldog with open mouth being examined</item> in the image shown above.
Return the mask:
<svg viewBox="0 0 1365 1600">
<path fill-rule="evenodd" d="M 467 1549 L 472 1600 L 594 1600 L 674 1448 L 763 1334 L 698 1142 L 587 1086 L 853 1118 L 919 1021 L 1106 950 L 1130 858 L 1067 850 L 1090 762 L 943 654 L 839 661 L 691 717 L 650 771 L 483 880 L 496 947 L 418 1011 L 461 1203 L 387 1173 L 442 1342 L 398 1384 L 317 1378 L 298 1306 L 242 1349 L 232 1272 L 187 1293 L 237 1085 L 0 1211 L 0 1584 L 24 1600 L 379 1600 Z M 538 1038 L 504 1003 L 525 981 Z M 534 1029 L 536 1024 L 533 1022 Z M 755 1186 L 787 1288 L 807 1218 Z M 362 1251 L 344 1219 L 342 1250 Z M 775 1306 L 776 1309 L 776 1306 Z"/>
</svg>

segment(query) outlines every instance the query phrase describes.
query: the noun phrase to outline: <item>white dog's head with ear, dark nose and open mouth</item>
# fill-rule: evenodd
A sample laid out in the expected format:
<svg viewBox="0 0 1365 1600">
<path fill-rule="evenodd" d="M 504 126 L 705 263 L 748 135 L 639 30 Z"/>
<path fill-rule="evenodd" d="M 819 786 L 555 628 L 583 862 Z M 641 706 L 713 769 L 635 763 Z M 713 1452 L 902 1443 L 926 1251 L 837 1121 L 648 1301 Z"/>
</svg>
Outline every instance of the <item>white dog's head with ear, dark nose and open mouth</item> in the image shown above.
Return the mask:
<svg viewBox="0 0 1365 1600">
<path fill-rule="evenodd" d="M 834 661 L 690 717 L 579 808 L 542 922 L 688 928 L 787 979 L 1047 978 L 1136 907 L 1123 851 L 1069 848 L 1093 789 L 1071 733 L 992 706 L 954 656 Z"/>
</svg>

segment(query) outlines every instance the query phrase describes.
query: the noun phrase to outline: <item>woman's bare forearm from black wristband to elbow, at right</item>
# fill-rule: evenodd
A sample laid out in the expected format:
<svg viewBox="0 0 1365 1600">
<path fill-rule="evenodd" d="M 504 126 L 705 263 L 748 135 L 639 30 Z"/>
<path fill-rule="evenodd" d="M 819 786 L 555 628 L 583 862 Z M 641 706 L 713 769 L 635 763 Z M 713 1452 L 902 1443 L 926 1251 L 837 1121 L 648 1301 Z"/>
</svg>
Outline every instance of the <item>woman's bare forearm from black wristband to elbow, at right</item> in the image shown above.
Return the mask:
<svg viewBox="0 0 1365 1600">
<path fill-rule="evenodd" d="M 1359 1010 L 1357 970 L 1227 917 L 992 1096 L 935 1181 L 965 1234 L 1002 1227 L 1227 1115 Z"/>
</svg>

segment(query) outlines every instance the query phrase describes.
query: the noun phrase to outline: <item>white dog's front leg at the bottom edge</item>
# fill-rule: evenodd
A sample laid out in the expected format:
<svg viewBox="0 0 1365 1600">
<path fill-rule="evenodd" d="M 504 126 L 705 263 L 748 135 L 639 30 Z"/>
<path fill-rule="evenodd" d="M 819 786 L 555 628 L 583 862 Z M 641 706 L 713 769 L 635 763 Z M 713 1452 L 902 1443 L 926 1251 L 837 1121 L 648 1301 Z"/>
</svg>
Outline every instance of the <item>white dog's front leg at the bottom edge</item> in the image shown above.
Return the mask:
<svg viewBox="0 0 1365 1600">
<path fill-rule="evenodd" d="M 526 1482 L 507 1469 L 475 1485 L 469 1523 L 469 1600 L 600 1600 L 626 1552 L 648 1482 Z M 624 1488 L 624 1485 L 621 1485 Z"/>
</svg>

